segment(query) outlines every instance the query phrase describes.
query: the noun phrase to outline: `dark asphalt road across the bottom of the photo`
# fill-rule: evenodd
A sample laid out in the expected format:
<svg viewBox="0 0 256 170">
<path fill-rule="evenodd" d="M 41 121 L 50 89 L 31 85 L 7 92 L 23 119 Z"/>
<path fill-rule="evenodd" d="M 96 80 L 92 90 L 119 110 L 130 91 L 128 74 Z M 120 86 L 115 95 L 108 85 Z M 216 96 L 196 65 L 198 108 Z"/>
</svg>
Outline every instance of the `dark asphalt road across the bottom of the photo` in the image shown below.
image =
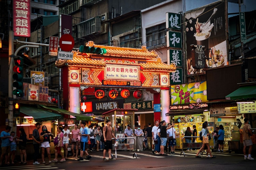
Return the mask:
<svg viewBox="0 0 256 170">
<path fill-rule="evenodd" d="M 115 152 L 112 152 L 115 158 Z M 254 160 L 244 160 L 243 154 L 235 153 L 213 153 L 217 158 L 195 158 L 196 151 L 185 152 L 186 156 L 180 156 L 180 151 L 176 151 L 175 155 L 156 155 L 149 151 L 136 152 L 137 159 L 133 158 L 133 152 L 117 151 L 116 160 L 103 160 L 103 152 L 89 152 L 92 156 L 90 160 L 77 161 L 69 158 L 65 162 L 52 162 L 49 164 L 48 159 L 45 159 L 46 164 L 33 165 L 32 161 L 28 161 L 27 165 L 9 165 L 1 166 L 0 170 L 105 170 L 105 169 L 175 169 L 175 170 L 206 170 L 206 169 L 221 169 L 221 170 L 253 170 L 256 169 L 256 157 Z M 253 157 L 253 155 L 252 155 Z M 52 158 L 54 159 L 54 158 Z M 59 157 L 60 160 L 60 157 Z"/>
</svg>

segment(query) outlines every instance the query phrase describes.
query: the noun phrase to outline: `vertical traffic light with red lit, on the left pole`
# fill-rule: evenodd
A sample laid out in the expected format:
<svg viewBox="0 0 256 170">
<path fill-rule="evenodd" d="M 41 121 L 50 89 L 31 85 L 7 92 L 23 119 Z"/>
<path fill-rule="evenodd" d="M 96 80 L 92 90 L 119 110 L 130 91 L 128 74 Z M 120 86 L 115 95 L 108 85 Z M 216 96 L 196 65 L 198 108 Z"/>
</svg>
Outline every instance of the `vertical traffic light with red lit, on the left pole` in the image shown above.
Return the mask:
<svg viewBox="0 0 256 170">
<path fill-rule="evenodd" d="M 16 87 L 15 90 L 12 91 L 13 95 L 17 97 L 23 96 L 23 58 L 19 56 L 13 56 L 15 66 L 13 66 L 12 70 L 15 72 L 12 75 L 12 78 L 16 81 L 12 83 L 13 87 Z"/>
</svg>

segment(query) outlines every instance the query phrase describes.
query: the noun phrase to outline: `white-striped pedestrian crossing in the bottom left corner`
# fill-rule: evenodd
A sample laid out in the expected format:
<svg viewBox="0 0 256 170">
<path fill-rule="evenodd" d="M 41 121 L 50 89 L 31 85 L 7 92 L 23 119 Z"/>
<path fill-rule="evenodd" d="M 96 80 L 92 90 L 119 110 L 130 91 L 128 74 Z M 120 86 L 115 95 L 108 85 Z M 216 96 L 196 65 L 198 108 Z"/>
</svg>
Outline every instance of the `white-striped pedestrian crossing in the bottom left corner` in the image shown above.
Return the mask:
<svg viewBox="0 0 256 170">
<path fill-rule="evenodd" d="M 26 165 L 26 166 L 10 166 L 10 167 L 0 167 L 0 170 L 38 170 L 38 169 L 52 169 L 52 170 L 65 170 L 59 169 L 58 167 L 52 167 L 49 165 Z"/>
</svg>

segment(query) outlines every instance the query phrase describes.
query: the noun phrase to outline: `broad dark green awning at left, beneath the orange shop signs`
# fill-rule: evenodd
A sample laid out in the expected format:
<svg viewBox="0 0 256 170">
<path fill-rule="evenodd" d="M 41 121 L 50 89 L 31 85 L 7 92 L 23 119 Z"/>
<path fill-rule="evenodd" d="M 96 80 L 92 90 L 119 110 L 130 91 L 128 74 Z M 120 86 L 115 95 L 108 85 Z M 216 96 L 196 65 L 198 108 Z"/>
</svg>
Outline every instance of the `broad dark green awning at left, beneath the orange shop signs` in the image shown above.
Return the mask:
<svg viewBox="0 0 256 170">
<path fill-rule="evenodd" d="M 20 107 L 20 112 L 25 115 L 32 116 L 36 122 L 52 121 L 63 119 L 63 115 L 52 113 L 38 107 Z"/>
</svg>

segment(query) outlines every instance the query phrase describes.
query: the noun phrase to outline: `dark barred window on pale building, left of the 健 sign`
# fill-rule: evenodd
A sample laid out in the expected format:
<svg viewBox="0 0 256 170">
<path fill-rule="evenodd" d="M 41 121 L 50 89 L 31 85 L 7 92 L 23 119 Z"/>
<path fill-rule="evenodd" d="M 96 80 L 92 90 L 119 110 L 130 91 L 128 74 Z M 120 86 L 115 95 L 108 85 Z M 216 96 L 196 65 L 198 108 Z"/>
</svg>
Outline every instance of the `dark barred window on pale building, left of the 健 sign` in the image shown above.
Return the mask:
<svg viewBox="0 0 256 170">
<path fill-rule="evenodd" d="M 146 41 L 149 43 L 152 43 L 152 45 L 165 43 L 166 42 L 165 35 L 166 35 L 165 23 L 146 29 L 146 36 L 147 36 Z"/>
</svg>

